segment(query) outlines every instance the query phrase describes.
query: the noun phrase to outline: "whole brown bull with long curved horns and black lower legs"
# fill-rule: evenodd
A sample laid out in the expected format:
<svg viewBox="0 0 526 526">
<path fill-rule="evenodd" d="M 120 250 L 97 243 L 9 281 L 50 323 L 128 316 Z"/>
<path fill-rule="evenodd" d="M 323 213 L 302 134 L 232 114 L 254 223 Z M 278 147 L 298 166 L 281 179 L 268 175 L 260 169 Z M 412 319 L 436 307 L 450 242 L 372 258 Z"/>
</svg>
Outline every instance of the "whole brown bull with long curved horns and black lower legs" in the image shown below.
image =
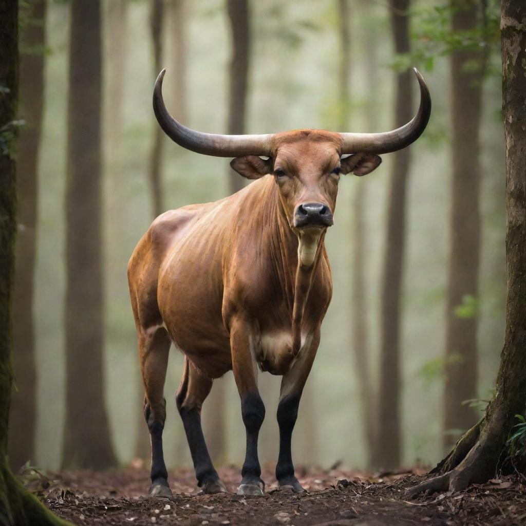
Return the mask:
<svg viewBox="0 0 526 526">
<path fill-rule="evenodd" d="M 257 180 L 215 203 L 160 215 L 129 261 L 151 438 L 149 494 L 171 494 L 162 444 L 170 342 L 185 355 L 176 402 L 203 492 L 226 491 L 210 460 L 200 413 L 214 379 L 229 370 L 234 371 L 247 436 L 238 493 L 264 492 L 257 443 L 265 406 L 258 393 L 258 367 L 283 377 L 276 478 L 300 492 L 290 441 L 332 294 L 323 240 L 332 225 L 340 174 L 366 175 L 380 164 L 377 154 L 416 140 L 429 120 L 429 92 L 415 70 L 418 113 L 387 133 L 304 129 L 223 136 L 191 130 L 168 114 L 161 94 L 164 73 L 155 84 L 154 111 L 165 133 L 197 153 L 235 157 L 232 168 Z"/>
</svg>

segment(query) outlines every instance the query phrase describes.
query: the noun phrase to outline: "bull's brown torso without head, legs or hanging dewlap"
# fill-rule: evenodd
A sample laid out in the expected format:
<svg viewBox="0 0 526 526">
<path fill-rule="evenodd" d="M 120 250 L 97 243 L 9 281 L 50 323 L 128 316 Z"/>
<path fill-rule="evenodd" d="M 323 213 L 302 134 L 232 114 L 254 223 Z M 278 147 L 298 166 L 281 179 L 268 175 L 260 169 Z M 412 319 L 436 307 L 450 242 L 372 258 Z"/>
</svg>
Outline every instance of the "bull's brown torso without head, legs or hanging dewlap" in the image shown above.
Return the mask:
<svg viewBox="0 0 526 526">
<path fill-rule="evenodd" d="M 302 323 L 300 356 L 318 340 L 332 292 L 323 246 L 320 255 Z M 249 326 L 260 368 L 277 375 L 290 370 L 298 239 L 280 210 L 270 176 L 215 203 L 159 216 L 130 265 L 144 276 L 136 296 L 151 299 L 150 305 L 138 306 L 144 328 L 164 325 L 205 376 L 219 378 L 232 369 L 229 328 L 239 317 Z"/>
</svg>

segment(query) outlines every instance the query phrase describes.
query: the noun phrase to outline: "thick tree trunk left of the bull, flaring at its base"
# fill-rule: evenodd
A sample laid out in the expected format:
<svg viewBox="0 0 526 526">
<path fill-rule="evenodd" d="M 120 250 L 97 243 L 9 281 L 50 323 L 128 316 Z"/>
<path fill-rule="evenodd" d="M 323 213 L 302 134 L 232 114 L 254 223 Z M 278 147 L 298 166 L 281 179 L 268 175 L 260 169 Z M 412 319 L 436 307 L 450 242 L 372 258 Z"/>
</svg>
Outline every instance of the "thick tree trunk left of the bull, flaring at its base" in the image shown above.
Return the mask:
<svg viewBox="0 0 526 526">
<path fill-rule="evenodd" d="M 65 468 L 117 461 L 104 404 L 100 3 L 72 3 L 66 193 Z"/>
</svg>

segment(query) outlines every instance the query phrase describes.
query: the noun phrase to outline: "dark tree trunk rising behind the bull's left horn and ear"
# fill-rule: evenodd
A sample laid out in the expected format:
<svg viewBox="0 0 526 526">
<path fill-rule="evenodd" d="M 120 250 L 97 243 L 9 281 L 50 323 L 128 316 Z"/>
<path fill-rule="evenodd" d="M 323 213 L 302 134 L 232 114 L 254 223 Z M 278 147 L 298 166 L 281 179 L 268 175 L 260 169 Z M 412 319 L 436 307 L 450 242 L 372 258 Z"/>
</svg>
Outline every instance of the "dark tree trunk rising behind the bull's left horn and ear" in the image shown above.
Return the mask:
<svg viewBox="0 0 526 526">
<path fill-rule="evenodd" d="M 232 32 L 232 57 L 229 68 L 228 133 L 245 133 L 248 66 L 250 59 L 250 9 L 248 0 L 227 0 L 228 19 Z M 244 179 L 228 168 L 230 193 L 245 186 Z"/>
</svg>

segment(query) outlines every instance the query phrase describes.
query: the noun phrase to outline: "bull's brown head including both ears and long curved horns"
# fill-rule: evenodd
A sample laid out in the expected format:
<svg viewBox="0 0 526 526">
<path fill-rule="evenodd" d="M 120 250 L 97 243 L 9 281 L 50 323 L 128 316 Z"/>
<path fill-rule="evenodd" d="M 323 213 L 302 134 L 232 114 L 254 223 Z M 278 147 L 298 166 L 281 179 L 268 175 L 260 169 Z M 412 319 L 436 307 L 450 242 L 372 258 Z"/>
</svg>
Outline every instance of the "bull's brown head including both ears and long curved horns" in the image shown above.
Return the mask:
<svg viewBox="0 0 526 526">
<path fill-rule="evenodd" d="M 161 91 L 164 69 L 155 83 L 154 112 L 161 128 L 180 146 L 201 154 L 235 157 L 232 168 L 248 179 L 274 174 L 291 228 L 321 230 L 332 225 L 340 174 L 369 174 L 381 163 L 378 154 L 409 146 L 426 128 L 431 98 L 422 75 L 417 69 L 414 73 L 420 84 L 418 113 L 406 125 L 385 133 L 309 129 L 268 135 L 201 133 L 168 113 Z"/>
</svg>

